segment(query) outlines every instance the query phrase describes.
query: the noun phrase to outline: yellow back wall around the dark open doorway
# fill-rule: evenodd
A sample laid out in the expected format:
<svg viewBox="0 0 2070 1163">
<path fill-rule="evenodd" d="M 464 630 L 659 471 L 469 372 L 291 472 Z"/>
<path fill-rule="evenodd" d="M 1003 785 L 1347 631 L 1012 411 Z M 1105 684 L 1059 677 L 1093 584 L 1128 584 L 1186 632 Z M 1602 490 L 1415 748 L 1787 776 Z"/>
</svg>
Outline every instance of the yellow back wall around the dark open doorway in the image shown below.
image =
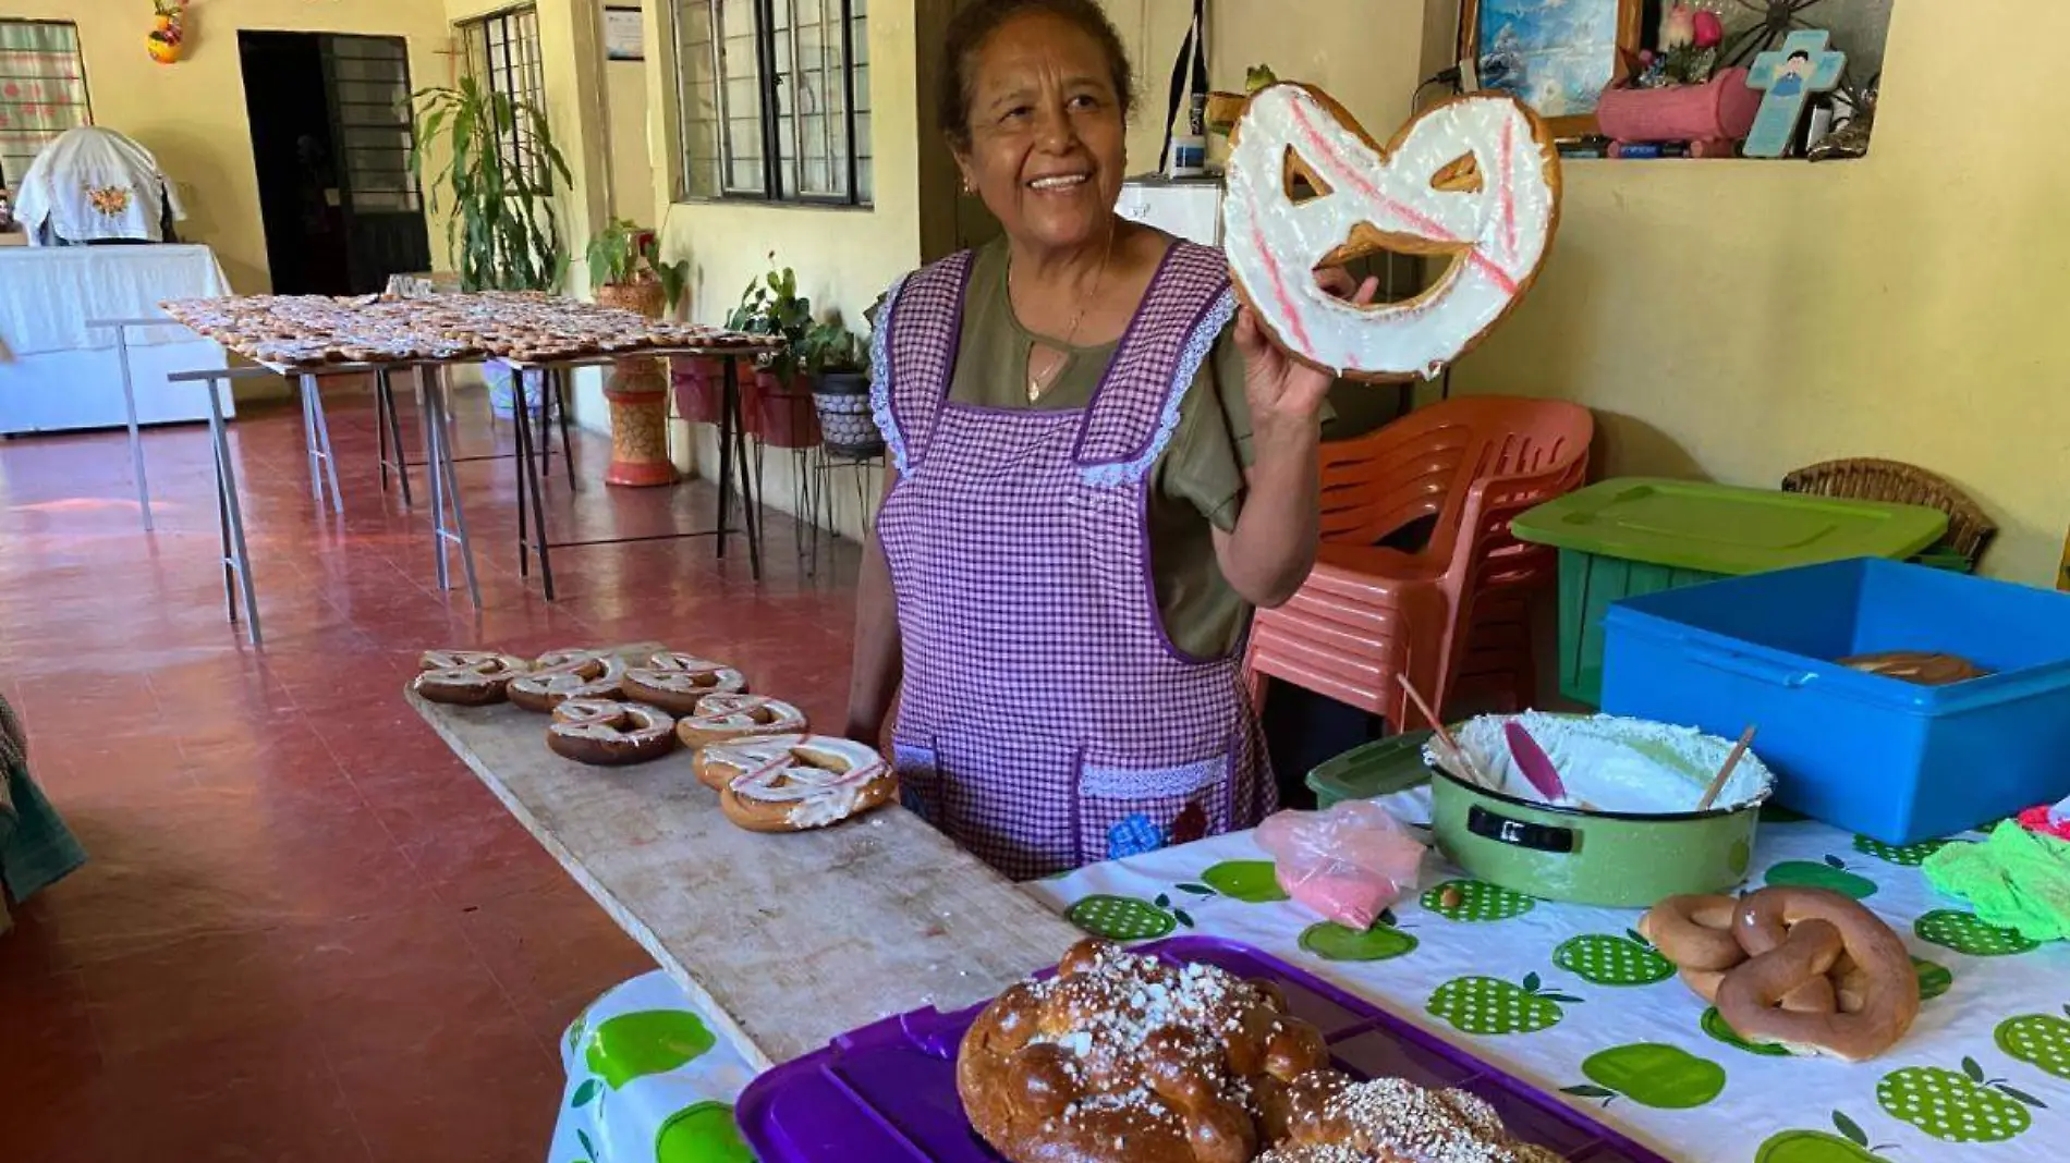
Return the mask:
<svg viewBox="0 0 2070 1163">
<path fill-rule="evenodd" d="M 213 246 L 230 286 L 242 294 L 271 290 L 271 281 L 238 29 L 397 35 L 410 41 L 412 83 L 443 85 L 451 68 L 441 54 L 445 19 L 426 0 L 211 0 L 193 8 L 186 60 L 172 66 L 145 56 L 151 31 L 145 0 L 4 0 L 0 12 L 79 25 L 93 120 L 157 155 L 186 203 L 182 236 Z"/>
</svg>

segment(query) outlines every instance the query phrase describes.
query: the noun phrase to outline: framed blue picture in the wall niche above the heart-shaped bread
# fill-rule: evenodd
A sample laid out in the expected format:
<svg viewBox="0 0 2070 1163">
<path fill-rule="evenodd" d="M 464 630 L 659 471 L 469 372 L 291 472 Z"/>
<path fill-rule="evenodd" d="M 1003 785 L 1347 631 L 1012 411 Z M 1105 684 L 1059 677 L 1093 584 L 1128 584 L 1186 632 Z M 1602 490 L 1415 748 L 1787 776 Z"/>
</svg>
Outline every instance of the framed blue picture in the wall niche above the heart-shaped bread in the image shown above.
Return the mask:
<svg viewBox="0 0 2070 1163">
<path fill-rule="evenodd" d="M 1461 0 L 1459 60 L 1515 93 L 1555 137 L 1596 132 L 1596 99 L 1639 52 L 1646 0 Z"/>
</svg>

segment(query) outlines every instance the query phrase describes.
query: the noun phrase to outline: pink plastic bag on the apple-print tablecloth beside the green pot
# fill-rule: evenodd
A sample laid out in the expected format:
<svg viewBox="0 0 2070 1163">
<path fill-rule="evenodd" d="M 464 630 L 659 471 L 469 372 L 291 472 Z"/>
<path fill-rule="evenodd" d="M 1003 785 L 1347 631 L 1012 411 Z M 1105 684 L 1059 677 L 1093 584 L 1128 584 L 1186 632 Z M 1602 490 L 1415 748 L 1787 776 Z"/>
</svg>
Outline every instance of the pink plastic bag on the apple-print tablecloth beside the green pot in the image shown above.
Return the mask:
<svg viewBox="0 0 2070 1163">
<path fill-rule="evenodd" d="M 1288 896 L 1360 931 L 1416 890 L 1424 855 L 1399 819 L 1366 799 L 1271 815 L 1259 824 L 1259 846 L 1279 863 Z"/>
</svg>

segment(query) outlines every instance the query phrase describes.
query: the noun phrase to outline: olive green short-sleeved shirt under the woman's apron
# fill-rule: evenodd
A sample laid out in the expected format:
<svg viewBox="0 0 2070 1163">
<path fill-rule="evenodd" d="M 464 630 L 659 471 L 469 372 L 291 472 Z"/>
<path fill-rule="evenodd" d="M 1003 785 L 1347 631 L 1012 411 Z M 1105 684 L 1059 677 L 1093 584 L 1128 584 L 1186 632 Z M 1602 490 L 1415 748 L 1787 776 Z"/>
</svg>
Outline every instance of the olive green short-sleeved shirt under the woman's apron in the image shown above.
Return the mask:
<svg viewBox="0 0 2070 1163">
<path fill-rule="evenodd" d="M 1029 352 L 1035 333 L 1014 317 L 1006 294 L 1006 244 L 977 250 L 963 304 L 963 348 L 948 397 L 981 408 L 1074 410 L 1093 401 L 1120 344 L 1066 352 L 1064 368 L 1041 399 L 1029 401 Z M 1215 341 L 1186 393 L 1178 430 L 1151 470 L 1151 575 L 1172 644 L 1199 658 L 1236 648 L 1250 606 L 1221 575 L 1211 530 L 1230 532 L 1244 507 L 1250 464 L 1250 404 L 1244 358 L 1230 331 Z"/>
</svg>

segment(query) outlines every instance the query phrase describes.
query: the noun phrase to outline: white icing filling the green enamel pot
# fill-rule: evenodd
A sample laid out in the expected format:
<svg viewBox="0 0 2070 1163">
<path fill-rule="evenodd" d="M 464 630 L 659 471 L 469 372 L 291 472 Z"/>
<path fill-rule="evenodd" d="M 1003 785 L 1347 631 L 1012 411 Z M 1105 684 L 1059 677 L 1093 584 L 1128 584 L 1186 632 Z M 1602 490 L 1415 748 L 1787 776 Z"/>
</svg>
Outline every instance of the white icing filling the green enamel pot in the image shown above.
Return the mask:
<svg viewBox="0 0 2070 1163">
<path fill-rule="evenodd" d="M 1515 718 L 1538 741 L 1567 784 L 1567 799 L 1557 807 L 1617 811 L 1633 815 L 1679 815 L 1695 811 L 1710 780 L 1724 766 L 1733 741 L 1704 735 L 1691 726 L 1668 726 L 1644 718 L 1567 716 L 1526 712 L 1519 716 L 1482 716 L 1457 730 L 1459 745 L 1474 764 L 1492 776 L 1503 795 L 1530 803 L 1548 803 L 1509 755 L 1503 724 Z M 1428 749 L 1424 751 L 1428 757 Z M 1749 749 L 1733 778 L 1724 782 L 1716 811 L 1753 805 L 1774 791 L 1774 776 Z"/>
</svg>

